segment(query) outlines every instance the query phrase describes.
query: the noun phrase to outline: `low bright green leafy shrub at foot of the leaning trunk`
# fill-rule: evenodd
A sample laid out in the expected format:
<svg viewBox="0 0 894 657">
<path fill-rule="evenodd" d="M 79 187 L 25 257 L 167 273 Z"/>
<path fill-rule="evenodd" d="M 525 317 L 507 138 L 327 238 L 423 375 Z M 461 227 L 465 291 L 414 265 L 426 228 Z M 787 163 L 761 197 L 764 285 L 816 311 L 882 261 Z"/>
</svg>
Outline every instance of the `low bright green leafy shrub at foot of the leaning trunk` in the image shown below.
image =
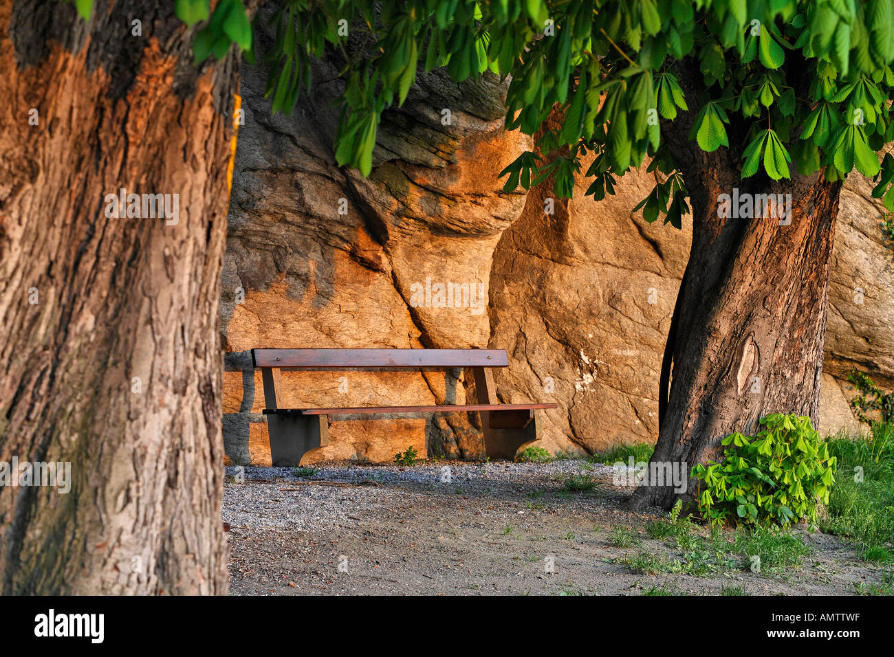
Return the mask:
<svg viewBox="0 0 894 657">
<path fill-rule="evenodd" d="M 836 459 L 820 441 L 809 417 L 762 417 L 755 437 L 738 432 L 721 442 L 721 463 L 694 470 L 698 507 L 713 523 L 789 526 L 801 518 L 816 520 L 817 501 L 827 503 L 835 481 Z"/>
</svg>

